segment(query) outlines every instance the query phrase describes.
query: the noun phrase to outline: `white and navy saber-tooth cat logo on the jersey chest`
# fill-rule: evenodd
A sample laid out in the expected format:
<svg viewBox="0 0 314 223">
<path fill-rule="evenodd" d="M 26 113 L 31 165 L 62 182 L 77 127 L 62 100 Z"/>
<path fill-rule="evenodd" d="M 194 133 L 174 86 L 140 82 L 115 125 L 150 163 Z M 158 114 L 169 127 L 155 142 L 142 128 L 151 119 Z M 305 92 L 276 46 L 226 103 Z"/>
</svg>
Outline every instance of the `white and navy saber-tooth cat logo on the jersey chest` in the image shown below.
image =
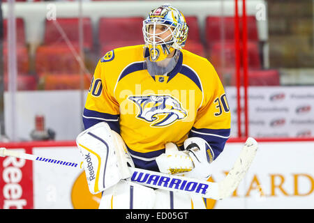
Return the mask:
<svg viewBox="0 0 314 223">
<path fill-rule="evenodd" d="M 140 108 L 137 118 L 151 123 L 153 127 L 171 125 L 188 115 L 181 102 L 171 95 L 130 95 L 128 100 Z"/>
</svg>

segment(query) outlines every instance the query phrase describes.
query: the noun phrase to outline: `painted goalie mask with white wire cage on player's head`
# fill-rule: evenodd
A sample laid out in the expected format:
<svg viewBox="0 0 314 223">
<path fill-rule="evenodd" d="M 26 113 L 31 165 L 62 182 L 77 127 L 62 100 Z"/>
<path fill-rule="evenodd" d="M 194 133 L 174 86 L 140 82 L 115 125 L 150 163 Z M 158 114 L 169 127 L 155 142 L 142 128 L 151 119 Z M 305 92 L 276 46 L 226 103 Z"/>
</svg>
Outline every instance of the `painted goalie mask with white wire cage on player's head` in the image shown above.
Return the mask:
<svg viewBox="0 0 314 223">
<path fill-rule="evenodd" d="M 188 38 L 184 15 L 170 5 L 151 10 L 143 21 L 142 31 L 152 62 L 162 61 L 174 50 L 183 48 Z"/>
</svg>

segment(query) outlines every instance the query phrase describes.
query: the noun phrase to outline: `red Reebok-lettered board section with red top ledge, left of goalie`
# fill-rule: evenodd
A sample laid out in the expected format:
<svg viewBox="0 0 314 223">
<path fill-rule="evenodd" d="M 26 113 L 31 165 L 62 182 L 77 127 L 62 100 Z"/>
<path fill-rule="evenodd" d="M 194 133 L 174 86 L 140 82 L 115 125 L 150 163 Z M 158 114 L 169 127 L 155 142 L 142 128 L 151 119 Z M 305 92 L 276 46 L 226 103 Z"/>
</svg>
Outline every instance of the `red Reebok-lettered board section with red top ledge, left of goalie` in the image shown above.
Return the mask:
<svg viewBox="0 0 314 223">
<path fill-rule="evenodd" d="M 32 154 L 34 147 L 74 146 L 75 141 L 29 141 L 4 143 L 1 147 Z M 33 161 L 0 158 L 0 209 L 33 209 Z"/>
</svg>

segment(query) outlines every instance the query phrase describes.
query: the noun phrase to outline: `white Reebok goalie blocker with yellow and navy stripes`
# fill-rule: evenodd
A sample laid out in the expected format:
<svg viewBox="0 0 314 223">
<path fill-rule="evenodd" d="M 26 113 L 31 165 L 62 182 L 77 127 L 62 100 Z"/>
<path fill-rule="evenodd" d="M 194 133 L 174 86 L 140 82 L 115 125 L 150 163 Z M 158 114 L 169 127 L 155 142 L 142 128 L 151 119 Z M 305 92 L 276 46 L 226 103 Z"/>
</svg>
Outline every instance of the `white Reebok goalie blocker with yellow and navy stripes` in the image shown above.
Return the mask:
<svg viewBox="0 0 314 223">
<path fill-rule="evenodd" d="M 127 154 L 123 139 L 107 123 L 98 123 L 81 132 L 76 144 L 83 157 L 84 171 L 92 194 L 98 194 L 121 179 L 130 177 L 128 164 L 133 167 L 133 161 Z"/>
</svg>

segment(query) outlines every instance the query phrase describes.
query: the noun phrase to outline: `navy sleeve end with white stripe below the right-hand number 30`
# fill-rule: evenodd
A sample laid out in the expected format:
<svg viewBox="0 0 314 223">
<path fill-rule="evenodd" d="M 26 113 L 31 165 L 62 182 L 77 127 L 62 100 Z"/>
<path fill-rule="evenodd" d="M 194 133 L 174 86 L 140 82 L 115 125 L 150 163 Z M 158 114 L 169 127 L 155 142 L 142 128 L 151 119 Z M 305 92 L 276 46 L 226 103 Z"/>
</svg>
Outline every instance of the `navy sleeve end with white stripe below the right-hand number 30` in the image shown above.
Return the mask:
<svg viewBox="0 0 314 223">
<path fill-rule="evenodd" d="M 192 128 L 188 137 L 200 137 L 207 141 L 209 146 L 214 153 L 214 160 L 218 157 L 218 155 L 223 151 L 225 148 L 225 143 L 230 136 L 230 129 L 205 129 L 205 128 Z"/>
</svg>

